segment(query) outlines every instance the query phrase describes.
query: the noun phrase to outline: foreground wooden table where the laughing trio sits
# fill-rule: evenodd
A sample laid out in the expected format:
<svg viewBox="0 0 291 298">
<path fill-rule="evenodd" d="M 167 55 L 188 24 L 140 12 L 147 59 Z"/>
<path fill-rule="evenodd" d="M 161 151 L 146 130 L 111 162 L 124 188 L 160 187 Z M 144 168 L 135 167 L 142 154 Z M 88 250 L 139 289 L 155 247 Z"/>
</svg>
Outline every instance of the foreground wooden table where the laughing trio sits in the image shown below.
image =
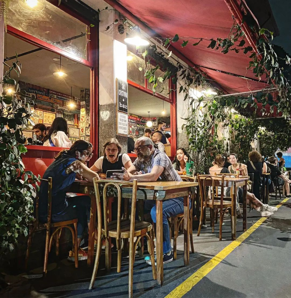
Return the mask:
<svg viewBox="0 0 291 298">
<path fill-rule="evenodd" d="M 115 181 L 116 182 L 116 181 Z M 189 265 L 189 191 L 197 186 L 198 182 L 159 181 L 138 182 L 137 199 L 156 201 L 156 254 L 157 254 L 157 283 L 163 285 L 163 201 L 170 198 L 184 197 L 184 264 Z M 94 258 L 94 233 L 96 227 L 96 199 L 92 182 L 75 181 L 68 192 L 82 193 L 91 198 L 90 229 L 88 243 L 87 264 L 93 264 Z M 122 187 L 122 197 L 131 198 L 132 189 Z M 98 229 L 101 227 L 98 226 Z"/>
</svg>

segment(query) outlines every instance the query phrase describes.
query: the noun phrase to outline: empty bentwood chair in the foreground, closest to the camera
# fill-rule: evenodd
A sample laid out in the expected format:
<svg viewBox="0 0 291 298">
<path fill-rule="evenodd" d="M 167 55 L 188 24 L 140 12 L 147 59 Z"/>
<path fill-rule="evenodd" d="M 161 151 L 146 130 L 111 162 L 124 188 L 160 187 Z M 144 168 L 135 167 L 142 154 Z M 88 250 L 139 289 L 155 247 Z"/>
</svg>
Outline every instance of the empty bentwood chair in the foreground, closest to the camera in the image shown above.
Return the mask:
<svg viewBox="0 0 291 298">
<path fill-rule="evenodd" d="M 153 271 L 153 279 L 156 277 L 156 269 L 155 269 L 155 259 L 154 259 L 154 249 L 153 242 L 151 236 L 152 224 L 145 221 L 135 221 L 135 212 L 136 212 L 136 191 L 137 191 L 137 180 L 134 179 L 132 182 L 125 181 L 108 181 L 108 180 L 97 180 L 97 178 L 93 179 L 95 195 L 96 195 L 96 204 L 97 204 L 97 214 L 98 214 L 98 227 L 101 227 L 101 203 L 100 203 L 100 193 L 99 193 L 99 185 L 105 184 L 103 188 L 103 206 L 104 206 L 104 226 L 102 229 L 98 228 L 98 243 L 97 243 L 97 252 L 96 259 L 94 264 L 94 269 L 91 277 L 91 282 L 89 289 L 93 288 L 96 273 L 98 269 L 100 254 L 101 254 L 101 241 L 103 237 L 105 237 L 105 267 L 109 269 L 111 260 L 109 259 L 109 237 L 116 238 L 116 246 L 117 246 L 117 272 L 121 271 L 121 239 L 129 238 L 129 277 L 128 277 L 128 295 L 132 297 L 133 295 L 133 263 L 135 259 L 135 251 L 136 247 L 141 240 L 142 237 L 147 238 L 148 251 L 150 253 L 150 258 L 152 262 L 152 271 Z M 118 207 L 117 207 L 117 220 L 108 222 L 107 216 L 107 196 L 106 191 L 107 188 L 115 187 L 118 192 Z M 131 203 L 131 215 L 130 220 L 123 219 L 121 220 L 121 187 L 132 187 L 132 203 Z M 136 242 L 134 243 L 133 238 L 137 237 Z"/>
</svg>

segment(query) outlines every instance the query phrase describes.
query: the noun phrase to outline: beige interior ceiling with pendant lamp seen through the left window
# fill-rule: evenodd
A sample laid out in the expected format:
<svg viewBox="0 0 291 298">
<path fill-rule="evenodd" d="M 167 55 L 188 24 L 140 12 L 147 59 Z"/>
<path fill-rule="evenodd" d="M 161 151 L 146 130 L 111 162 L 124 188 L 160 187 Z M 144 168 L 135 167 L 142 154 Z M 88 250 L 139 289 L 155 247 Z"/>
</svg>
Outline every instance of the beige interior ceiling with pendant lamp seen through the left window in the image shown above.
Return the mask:
<svg viewBox="0 0 291 298">
<path fill-rule="evenodd" d="M 33 49 L 37 49 L 37 47 L 5 33 L 5 58 L 15 56 L 15 52 L 21 54 Z M 60 58 L 60 56 L 44 49 L 21 56 L 19 57 L 19 61 L 22 64 L 21 75 L 18 77 L 16 72 L 12 72 L 11 76 L 16 81 L 21 80 L 69 95 L 71 94 L 72 86 L 72 95 L 78 98 L 80 97 L 81 88 L 90 89 L 89 67 L 62 57 L 61 70 L 67 74 L 67 77 L 56 77 L 53 75 L 53 72 L 59 70 L 60 62 L 54 61 L 53 58 Z M 14 60 L 8 60 L 6 63 L 11 65 Z M 7 70 L 6 66 L 4 70 Z"/>
</svg>

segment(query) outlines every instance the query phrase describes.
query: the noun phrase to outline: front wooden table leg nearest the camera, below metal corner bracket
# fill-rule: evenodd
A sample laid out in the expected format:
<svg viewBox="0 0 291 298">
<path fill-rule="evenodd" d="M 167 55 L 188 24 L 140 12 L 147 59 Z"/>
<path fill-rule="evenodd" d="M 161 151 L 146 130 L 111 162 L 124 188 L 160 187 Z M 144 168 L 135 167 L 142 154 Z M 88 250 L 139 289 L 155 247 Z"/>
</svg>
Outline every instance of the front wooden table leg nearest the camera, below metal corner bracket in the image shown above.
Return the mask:
<svg viewBox="0 0 291 298">
<path fill-rule="evenodd" d="M 157 254 L 157 283 L 163 285 L 163 201 L 156 201 L 156 254 Z"/>
</svg>

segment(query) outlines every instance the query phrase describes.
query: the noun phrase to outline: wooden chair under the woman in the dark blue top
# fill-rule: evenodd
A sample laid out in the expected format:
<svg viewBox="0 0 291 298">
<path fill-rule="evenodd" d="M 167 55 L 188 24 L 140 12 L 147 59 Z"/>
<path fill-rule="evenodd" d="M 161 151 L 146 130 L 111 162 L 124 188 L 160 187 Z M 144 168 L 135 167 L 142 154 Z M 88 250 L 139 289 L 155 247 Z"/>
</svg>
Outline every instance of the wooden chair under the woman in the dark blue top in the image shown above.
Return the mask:
<svg viewBox="0 0 291 298">
<path fill-rule="evenodd" d="M 47 274 L 47 261 L 48 261 L 48 254 L 52 248 L 53 238 L 56 237 L 56 255 L 59 254 L 59 240 L 61 236 L 61 231 L 63 228 L 68 228 L 72 233 L 72 241 L 73 241 L 73 251 L 75 253 L 75 267 L 78 268 L 78 233 L 77 233 L 77 222 L 78 218 L 69 220 L 69 221 L 59 221 L 52 223 L 51 216 L 52 216 L 52 178 L 48 177 L 48 179 L 40 179 L 41 183 L 48 184 L 48 191 L 47 191 L 47 223 L 41 224 L 39 223 L 39 195 L 36 195 L 36 208 L 35 208 L 35 221 L 33 224 L 29 226 L 29 234 L 27 240 L 27 251 L 26 251 L 26 258 L 25 258 L 25 266 L 27 268 L 28 265 L 28 258 L 30 253 L 30 247 L 32 242 L 32 237 L 34 232 L 46 229 L 46 237 L 45 237 L 45 250 L 44 250 L 44 275 Z M 69 226 L 70 224 L 74 225 L 74 229 Z M 53 233 L 50 235 L 51 228 L 55 228 Z"/>
</svg>

